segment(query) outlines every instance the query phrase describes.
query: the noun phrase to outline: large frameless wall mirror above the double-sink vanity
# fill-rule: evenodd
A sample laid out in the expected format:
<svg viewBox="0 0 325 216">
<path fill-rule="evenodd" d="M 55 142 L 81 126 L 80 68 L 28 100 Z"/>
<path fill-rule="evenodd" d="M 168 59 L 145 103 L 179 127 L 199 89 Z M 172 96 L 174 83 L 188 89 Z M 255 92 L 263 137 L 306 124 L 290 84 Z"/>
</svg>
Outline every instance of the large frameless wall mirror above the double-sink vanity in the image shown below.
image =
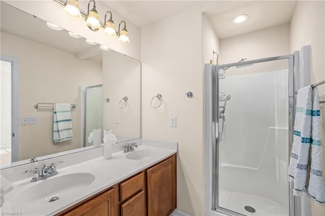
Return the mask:
<svg viewBox="0 0 325 216">
<path fill-rule="evenodd" d="M 91 149 L 93 129 L 141 134 L 141 62 L 49 25 L 1 2 L 2 168 Z M 73 139 L 53 141 L 52 103 L 71 103 Z"/>
</svg>

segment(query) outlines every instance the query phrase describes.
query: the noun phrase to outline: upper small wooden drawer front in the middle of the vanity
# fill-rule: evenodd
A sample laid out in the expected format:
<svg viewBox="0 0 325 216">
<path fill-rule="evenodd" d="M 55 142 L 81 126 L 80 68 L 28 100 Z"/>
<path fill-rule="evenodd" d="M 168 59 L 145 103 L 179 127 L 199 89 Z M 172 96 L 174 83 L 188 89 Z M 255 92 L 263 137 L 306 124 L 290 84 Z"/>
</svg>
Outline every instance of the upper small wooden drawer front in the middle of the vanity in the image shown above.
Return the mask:
<svg viewBox="0 0 325 216">
<path fill-rule="evenodd" d="M 121 202 L 144 189 L 144 172 L 121 183 Z"/>
</svg>

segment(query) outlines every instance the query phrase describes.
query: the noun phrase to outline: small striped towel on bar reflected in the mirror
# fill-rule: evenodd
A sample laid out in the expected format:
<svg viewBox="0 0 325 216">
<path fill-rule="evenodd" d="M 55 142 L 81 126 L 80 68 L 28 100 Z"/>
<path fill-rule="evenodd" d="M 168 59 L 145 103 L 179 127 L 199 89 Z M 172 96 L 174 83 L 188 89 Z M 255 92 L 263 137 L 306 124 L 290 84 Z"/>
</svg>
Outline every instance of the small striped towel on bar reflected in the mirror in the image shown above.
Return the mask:
<svg viewBox="0 0 325 216">
<path fill-rule="evenodd" d="M 73 139 L 70 103 L 55 103 L 53 115 L 53 140 L 62 142 Z"/>
</svg>

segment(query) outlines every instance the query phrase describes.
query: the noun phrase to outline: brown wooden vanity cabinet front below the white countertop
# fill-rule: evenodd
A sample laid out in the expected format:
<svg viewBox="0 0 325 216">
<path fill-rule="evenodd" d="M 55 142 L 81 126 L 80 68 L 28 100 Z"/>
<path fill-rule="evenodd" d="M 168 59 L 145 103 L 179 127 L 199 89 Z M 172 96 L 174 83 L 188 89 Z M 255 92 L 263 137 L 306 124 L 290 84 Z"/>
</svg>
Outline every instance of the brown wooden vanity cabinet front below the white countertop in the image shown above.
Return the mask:
<svg viewBox="0 0 325 216">
<path fill-rule="evenodd" d="M 175 208 L 176 154 L 55 216 L 164 216 Z"/>
</svg>

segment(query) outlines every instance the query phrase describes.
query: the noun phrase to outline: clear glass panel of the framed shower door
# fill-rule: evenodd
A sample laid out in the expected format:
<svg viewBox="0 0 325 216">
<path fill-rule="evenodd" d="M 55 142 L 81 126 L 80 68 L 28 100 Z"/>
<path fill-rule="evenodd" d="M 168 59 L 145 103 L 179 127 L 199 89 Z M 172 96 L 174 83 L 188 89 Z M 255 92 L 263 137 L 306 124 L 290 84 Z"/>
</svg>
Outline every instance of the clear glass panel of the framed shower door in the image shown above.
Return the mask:
<svg viewBox="0 0 325 216">
<path fill-rule="evenodd" d="M 289 215 L 293 55 L 218 65 L 216 71 L 223 76 L 216 81 L 215 208 Z"/>
</svg>

